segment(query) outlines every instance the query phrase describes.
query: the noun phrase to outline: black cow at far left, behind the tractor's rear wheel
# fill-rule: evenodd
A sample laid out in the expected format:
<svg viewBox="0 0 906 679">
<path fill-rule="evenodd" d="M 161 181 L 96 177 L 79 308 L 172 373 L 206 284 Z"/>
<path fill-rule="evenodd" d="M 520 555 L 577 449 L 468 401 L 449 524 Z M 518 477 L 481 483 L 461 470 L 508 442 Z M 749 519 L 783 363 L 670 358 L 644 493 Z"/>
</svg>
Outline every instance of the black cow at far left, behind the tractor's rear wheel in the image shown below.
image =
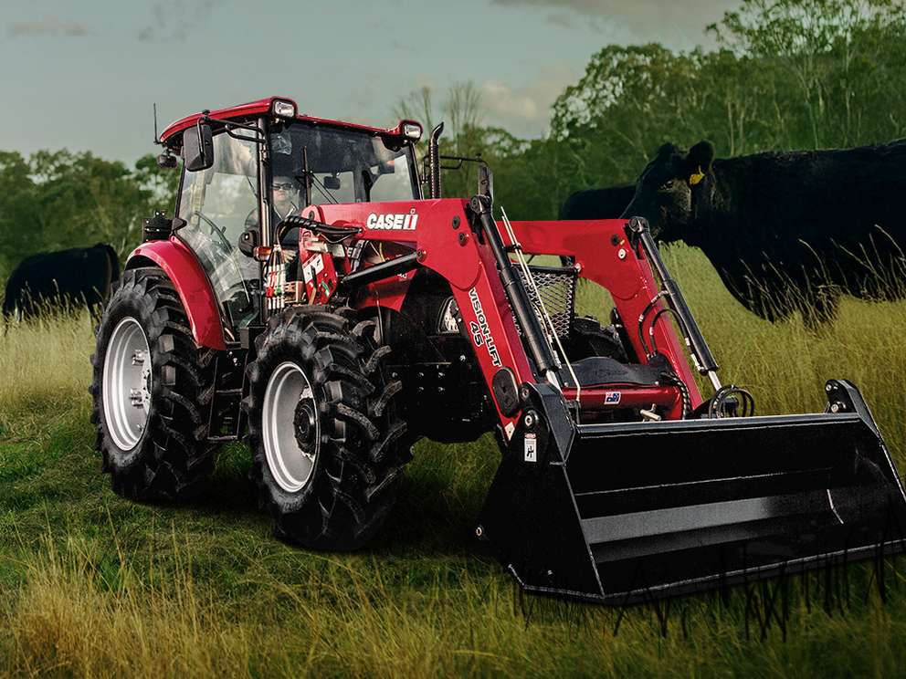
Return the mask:
<svg viewBox="0 0 906 679">
<path fill-rule="evenodd" d="M 46 252 L 23 259 L 6 281 L 3 315 L 24 319 L 55 307 L 96 305 L 120 279 L 120 259 L 103 243 Z"/>
</svg>

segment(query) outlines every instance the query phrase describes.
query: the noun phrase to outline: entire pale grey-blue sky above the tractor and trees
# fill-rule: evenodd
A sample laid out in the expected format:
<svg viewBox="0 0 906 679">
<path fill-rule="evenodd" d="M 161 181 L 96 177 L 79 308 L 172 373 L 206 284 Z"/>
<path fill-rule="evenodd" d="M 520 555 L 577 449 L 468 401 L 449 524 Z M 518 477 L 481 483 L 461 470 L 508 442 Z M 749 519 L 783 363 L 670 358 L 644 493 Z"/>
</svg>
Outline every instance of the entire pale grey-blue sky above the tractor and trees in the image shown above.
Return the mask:
<svg viewBox="0 0 906 679">
<path fill-rule="evenodd" d="M 471 81 L 483 122 L 543 135 L 553 100 L 608 44 L 711 46 L 738 0 L 2 0 L 0 151 L 132 163 L 202 109 L 290 96 L 382 127 L 415 89 Z"/>
</svg>

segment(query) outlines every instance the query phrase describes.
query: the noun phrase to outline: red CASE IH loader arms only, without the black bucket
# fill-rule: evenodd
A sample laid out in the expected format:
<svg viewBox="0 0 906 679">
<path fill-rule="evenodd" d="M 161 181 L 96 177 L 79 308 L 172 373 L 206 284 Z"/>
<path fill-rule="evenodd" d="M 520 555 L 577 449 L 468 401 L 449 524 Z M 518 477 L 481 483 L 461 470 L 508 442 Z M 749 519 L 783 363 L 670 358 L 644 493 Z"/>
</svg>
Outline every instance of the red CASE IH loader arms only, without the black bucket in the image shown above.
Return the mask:
<svg viewBox="0 0 906 679">
<path fill-rule="evenodd" d="M 415 212 L 413 212 L 415 211 Z M 519 413 L 504 414 L 498 396 L 493 388 L 494 376 L 503 368 L 512 371 L 516 384 L 536 382 L 543 379 L 535 374 L 530 365 L 513 320 L 510 301 L 500 282 L 498 266 L 487 238 L 474 227 L 474 214 L 469 204 L 461 199 L 438 199 L 385 204 L 340 204 L 318 205 L 306 208 L 303 214 L 333 225 L 355 225 L 362 229 L 360 238 L 378 243 L 406 245 L 419 253 L 419 265 L 427 267 L 444 277 L 456 298 L 461 323 L 465 334 L 471 339 L 476 360 L 484 381 L 494 400 L 505 432 L 511 433 Z M 374 215 L 416 214 L 414 228 L 386 228 L 385 220 L 374 228 Z M 394 222 L 395 225 L 395 222 Z M 401 222 L 402 225 L 402 222 Z M 641 251 L 627 243 L 624 231 L 625 220 L 597 220 L 589 222 L 514 222 L 513 227 L 527 253 L 574 257 L 579 265 L 579 276 L 595 282 L 610 292 L 620 317 L 634 323 L 635 319 L 656 298 L 658 284 L 648 261 Z M 504 241 L 504 245 L 512 245 Z M 377 294 L 374 299 L 385 298 L 398 308 L 405 295 L 406 280 L 402 276 L 387 280 L 372 288 Z M 403 287 L 403 290 L 400 290 Z M 379 302 L 376 302 L 379 303 Z M 662 308 L 658 302 L 654 309 Z M 478 331 L 475 331 L 478 329 Z M 648 362 L 646 350 L 635 333 L 629 333 L 632 349 Z M 654 328 L 654 339 L 658 352 L 668 360 L 672 370 L 689 387 L 691 407 L 701 402 L 699 392 L 688 360 L 672 325 L 659 323 Z M 672 402 L 674 389 L 669 386 L 657 388 L 656 398 Z M 633 402 L 634 387 L 626 385 L 627 402 Z M 635 401 L 650 402 L 654 394 L 651 388 L 637 390 Z M 567 396 L 573 391 L 564 390 Z M 603 400 L 604 392 L 595 394 L 586 390 L 590 402 L 595 398 Z M 671 415 L 679 416 L 679 407 Z"/>
</svg>

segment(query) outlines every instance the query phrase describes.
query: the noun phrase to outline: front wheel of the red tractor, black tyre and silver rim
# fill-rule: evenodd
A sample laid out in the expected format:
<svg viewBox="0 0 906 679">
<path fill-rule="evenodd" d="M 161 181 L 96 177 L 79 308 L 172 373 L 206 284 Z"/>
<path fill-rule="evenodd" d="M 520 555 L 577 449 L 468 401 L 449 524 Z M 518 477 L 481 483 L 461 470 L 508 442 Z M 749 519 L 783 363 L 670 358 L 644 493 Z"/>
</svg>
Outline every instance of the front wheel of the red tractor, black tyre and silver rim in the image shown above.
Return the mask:
<svg viewBox="0 0 906 679">
<path fill-rule="evenodd" d="M 374 536 L 402 479 L 406 426 L 386 347 L 350 308 L 290 308 L 269 321 L 248 367 L 252 480 L 278 538 L 353 549 Z"/>
</svg>

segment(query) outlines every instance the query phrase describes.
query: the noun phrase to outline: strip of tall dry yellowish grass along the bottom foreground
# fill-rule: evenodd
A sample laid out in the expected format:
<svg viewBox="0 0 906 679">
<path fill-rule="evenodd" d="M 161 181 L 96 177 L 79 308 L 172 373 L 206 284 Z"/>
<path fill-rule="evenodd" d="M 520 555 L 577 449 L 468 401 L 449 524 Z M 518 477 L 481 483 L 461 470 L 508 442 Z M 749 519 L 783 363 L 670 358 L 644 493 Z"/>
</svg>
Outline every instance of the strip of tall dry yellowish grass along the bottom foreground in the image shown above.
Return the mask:
<svg viewBox="0 0 906 679">
<path fill-rule="evenodd" d="M 764 590 L 672 611 L 616 611 L 521 597 L 499 575 L 435 570 L 400 586 L 376 559 L 321 558 L 286 582 L 263 570 L 239 608 L 196 580 L 198 553 L 175 534 L 151 563 L 115 559 L 84 538 L 42 541 L 26 582 L 0 609 L 0 670 L 75 676 L 888 675 L 906 653 L 902 588 L 886 605 L 854 569 L 846 601 L 814 578 L 781 622 L 764 625 Z M 160 563 L 158 563 L 158 561 Z M 798 586 L 801 590 L 801 585 Z M 751 594 L 751 592 L 750 592 Z M 770 593 L 767 594 L 770 596 Z M 754 603 L 753 603 L 754 601 Z M 747 614 L 747 608 L 750 612 Z M 779 609 L 779 606 L 778 606 Z M 775 612 L 776 614 L 776 612 Z M 778 616 L 779 618 L 779 616 Z"/>
</svg>

